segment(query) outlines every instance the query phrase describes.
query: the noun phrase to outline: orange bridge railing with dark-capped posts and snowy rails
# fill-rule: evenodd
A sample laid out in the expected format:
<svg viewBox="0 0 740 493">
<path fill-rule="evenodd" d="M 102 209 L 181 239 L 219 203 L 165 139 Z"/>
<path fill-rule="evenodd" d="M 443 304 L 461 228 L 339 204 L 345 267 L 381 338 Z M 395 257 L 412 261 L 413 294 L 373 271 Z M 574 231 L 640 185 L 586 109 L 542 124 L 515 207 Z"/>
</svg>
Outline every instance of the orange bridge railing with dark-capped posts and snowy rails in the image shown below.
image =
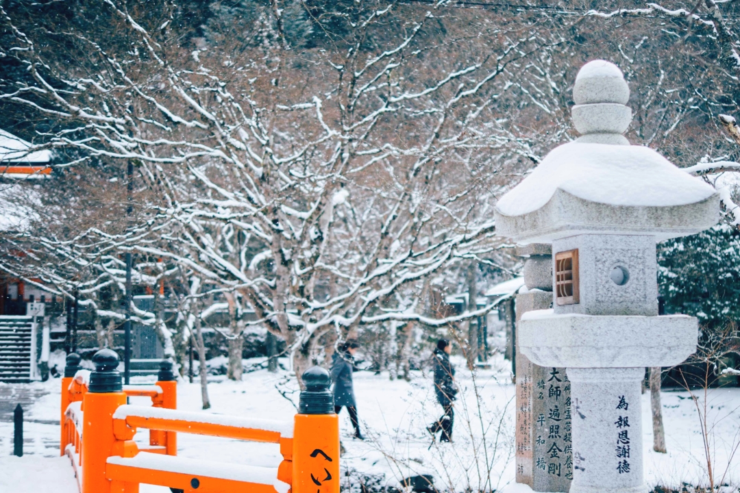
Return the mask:
<svg viewBox="0 0 740 493">
<path fill-rule="evenodd" d="M 62 379 L 61 449 L 81 493 L 138 493 L 140 483 L 173 492 L 339 493 L 339 421 L 323 368 L 303 373 L 298 414 L 286 423 L 178 411 L 169 361 L 147 386 L 121 384 L 112 350 L 98 351 L 92 361 L 88 379 L 78 370 L 79 356 L 70 354 Z M 149 396 L 152 407 L 128 405 L 127 395 Z M 149 429 L 147 447 L 133 441 L 139 428 Z M 178 458 L 178 432 L 276 443 L 283 461 L 268 468 Z"/>
</svg>

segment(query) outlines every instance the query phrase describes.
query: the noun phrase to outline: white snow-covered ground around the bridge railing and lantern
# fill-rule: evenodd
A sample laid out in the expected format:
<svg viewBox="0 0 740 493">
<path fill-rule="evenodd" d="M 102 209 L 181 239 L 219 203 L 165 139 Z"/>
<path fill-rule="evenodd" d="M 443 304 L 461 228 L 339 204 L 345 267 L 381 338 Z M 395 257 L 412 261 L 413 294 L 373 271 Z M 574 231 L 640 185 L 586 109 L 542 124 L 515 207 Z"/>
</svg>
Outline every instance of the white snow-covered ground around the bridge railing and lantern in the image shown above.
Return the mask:
<svg viewBox="0 0 740 493">
<path fill-rule="evenodd" d="M 502 489 L 514 482 L 514 386 L 507 370 L 510 364 L 494 360 L 492 370 L 479 370 L 472 378 L 462 361 L 456 363 L 464 398 L 456 405 L 452 445 L 429 447 L 431 440 L 425 426 L 438 417 L 440 409 L 434 401 L 428 372 L 413 372 L 411 382 L 391 381 L 388 373 L 355 373 L 358 411 L 367 440 L 351 438 L 349 418 L 343 415 L 342 442 L 346 454 L 342 457 L 342 467 L 349 472 L 343 475 L 343 486 L 359 491 L 363 477 L 364 482 L 377 481 L 379 486 L 397 486 L 403 477 L 420 474 L 434 475 L 437 488 L 452 487 L 457 492 Z M 58 380 L 44 384 L 0 384 L 0 404 L 6 402 L 5 408 L 10 409 L 7 401 L 33 401 L 26 415 L 24 458 L 10 457 L 12 415 L 0 412 L 0 492 L 74 491 L 70 489 L 70 486 L 74 488 L 71 467 L 65 473 L 65 459 L 45 459 L 58 455 L 59 428 L 55 424 L 59 415 L 58 387 Z M 208 412 L 290 420 L 295 407 L 278 390 L 297 403 L 295 381 L 285 372 L 274 375 L 259 370 L 246 374 L 242 382 L 214 377 L 209 384 L 212 409 Z M 701 422 L 693 400 L 688 392 L 663 392 L 662 398 L 666 455 L 652 451 L 649 393 L 642 401 L 647 483 L 667 487 L 679 487 L 684 482 L 706 484 Z M 703 404 L 703 394 L 699 398 L 699 404 Z M 145 404 L 147 400 L 141 398 L 132 404 Z M 180 384 L 178 404 L 180 409 L 201 409 L 198 384 Z M 707 428 L 714 438 L 710 452 L 716 477 L 721 478 L 727 469 L 724 482 L 737 488 L 740 458 L 733 460 L 733 466 L 727 466 L 727 459 L 733 446 L 740 443 L 740 389 L 710 390 L 707 408 Z M 0 405 L 0 409 L 4 408 Z M 146 434 L 146 431 L 140 433 L 137 439 L 145 441 Z M 256 466 L 277 466 L 280 462 L 275 445 L 185 434 L 178 435 L 178 455 Z M 44 475 L 49 477 L 44 480 L 47 489 L 38 483 L 24 486 L 19 481 L 21 477 L 38 477 L 35 473 L 41 470 L 49 472 Z M 154 486 L 142 486 L 141 491 L 169 492 Z"/>
</svg>

